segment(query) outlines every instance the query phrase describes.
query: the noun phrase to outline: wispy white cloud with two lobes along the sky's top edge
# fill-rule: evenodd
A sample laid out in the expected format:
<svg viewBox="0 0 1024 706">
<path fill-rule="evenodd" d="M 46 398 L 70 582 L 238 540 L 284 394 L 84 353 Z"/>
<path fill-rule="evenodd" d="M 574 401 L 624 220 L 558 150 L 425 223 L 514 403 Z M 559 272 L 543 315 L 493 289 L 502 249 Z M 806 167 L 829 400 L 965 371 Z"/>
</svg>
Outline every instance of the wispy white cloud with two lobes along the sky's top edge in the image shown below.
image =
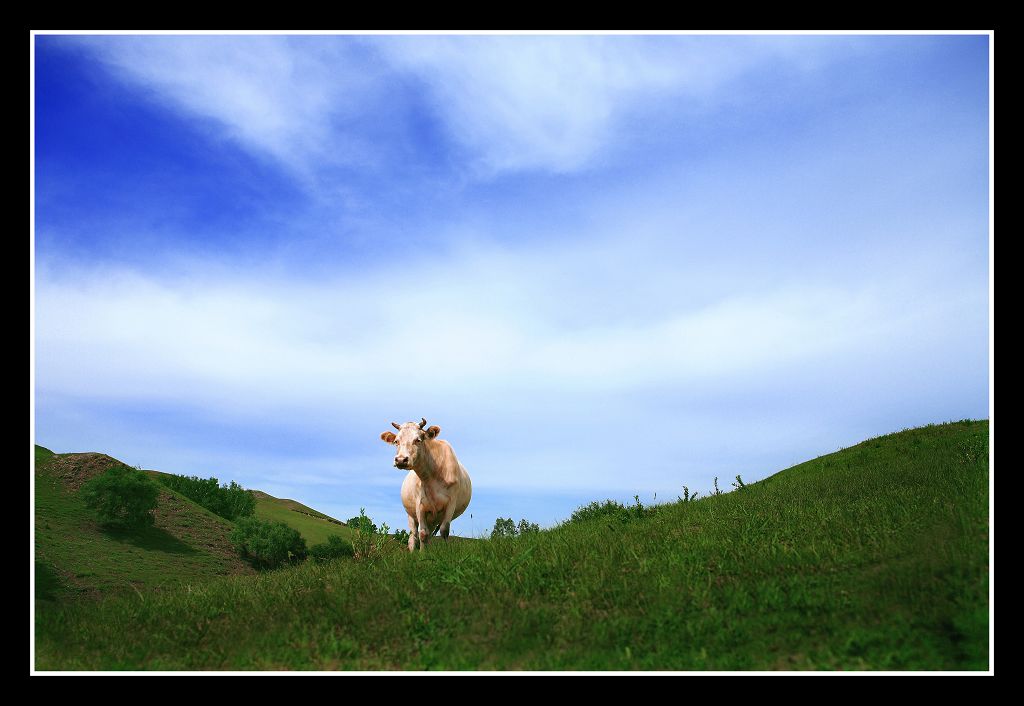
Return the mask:
<svg viewBox="0 0 1024 706">
<path fill-rule="evenodd" d="M 88 37 L 119 77 L 299 173 L 377 163 L 413 126 L 409 82 L 480 177 L 571 172 L 620 149 L 652 99 L 689 110 L 766 61 L 808 70 L 821 47 L 709 37 Z M 368 139 L 370 128 L 377 138 Z M 627 131 L 628 131 L 627 130 Z"/>
</svg>

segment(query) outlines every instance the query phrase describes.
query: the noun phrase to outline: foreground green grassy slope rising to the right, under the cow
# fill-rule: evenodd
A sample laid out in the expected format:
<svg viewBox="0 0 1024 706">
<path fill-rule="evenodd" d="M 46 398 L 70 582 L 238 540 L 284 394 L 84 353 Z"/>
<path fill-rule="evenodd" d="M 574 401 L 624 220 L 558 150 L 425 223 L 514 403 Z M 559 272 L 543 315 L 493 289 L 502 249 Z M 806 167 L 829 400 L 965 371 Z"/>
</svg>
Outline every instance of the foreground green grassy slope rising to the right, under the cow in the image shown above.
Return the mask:
<svg viewBox="0 0 1024 706">
<path fill-rule="evenodd" d="M 988 422 L 622 522 L 47 611 L 39 669 L 988 668 Z"/>
</svg>

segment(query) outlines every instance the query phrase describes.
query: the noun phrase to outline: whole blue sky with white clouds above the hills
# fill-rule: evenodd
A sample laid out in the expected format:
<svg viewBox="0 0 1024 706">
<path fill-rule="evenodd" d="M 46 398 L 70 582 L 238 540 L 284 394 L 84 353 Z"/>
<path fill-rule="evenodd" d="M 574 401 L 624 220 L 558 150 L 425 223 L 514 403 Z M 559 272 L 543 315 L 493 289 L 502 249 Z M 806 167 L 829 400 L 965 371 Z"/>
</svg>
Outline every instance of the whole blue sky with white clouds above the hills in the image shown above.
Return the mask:
<svg viewBox="0 0 1024 706">
<path fill-rule="evenodd" d="M 35 435 L 459 534 L 988 416 L 987 36 L 35 38 Z"/>
</svg>

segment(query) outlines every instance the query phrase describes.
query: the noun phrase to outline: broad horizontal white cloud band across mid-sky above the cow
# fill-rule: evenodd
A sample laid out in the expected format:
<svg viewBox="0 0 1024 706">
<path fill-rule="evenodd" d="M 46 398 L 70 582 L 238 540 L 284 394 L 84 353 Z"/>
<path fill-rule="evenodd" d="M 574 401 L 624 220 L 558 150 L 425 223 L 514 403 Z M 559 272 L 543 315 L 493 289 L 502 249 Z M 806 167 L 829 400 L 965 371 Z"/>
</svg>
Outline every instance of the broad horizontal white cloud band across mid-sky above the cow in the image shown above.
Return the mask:
<svg viewBox="0 0 1024 706">
<path fill-rule="evenodd" d="M 388 268 L 324 281 L 244 272 L 166 282 L 118 268 L 43 271 L 37 381 L 242 418 L 313 408 L 357 417 L 477 393 L 515 410 L 539 390 L 584 398 L 797 371 L 883 347 L 902 327 L 936 326 L 963 296 L 922 302 L 920 282 L 892 279 L 746 290 L 723 281 L 691 304 L 678 296 L 687 275 L 677 266 L 653 298 L 647 289 L 613 315 L 566 325 L 566 308 L 586 309 L 605 286 L 590 265 L 566 246 L 557 256 L 549 248 L 425 259 L 409 263 L 422 275 L 397 280 Z M 652 263 L 631 277 L 660 273 Z"/>
</svg>

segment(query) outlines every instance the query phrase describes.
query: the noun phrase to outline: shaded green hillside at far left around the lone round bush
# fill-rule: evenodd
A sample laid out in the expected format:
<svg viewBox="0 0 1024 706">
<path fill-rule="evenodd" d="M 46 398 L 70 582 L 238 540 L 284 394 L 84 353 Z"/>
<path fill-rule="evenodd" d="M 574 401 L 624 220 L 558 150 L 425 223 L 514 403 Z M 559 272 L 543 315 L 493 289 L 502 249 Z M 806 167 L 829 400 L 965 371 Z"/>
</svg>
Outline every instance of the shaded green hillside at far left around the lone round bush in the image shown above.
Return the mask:
<svg viewBox="0 0 1024 706">
<path fill-rule="evenodd" d="M 154 527 L 101 527 L 78 489 L 117 461 L 105 454 L 54 454 L 36 447 L 37 597 L 135 593 L 218 576 L 253 574 L 231 548 L 231 523 L 161 488 Z"/>
</svg>

